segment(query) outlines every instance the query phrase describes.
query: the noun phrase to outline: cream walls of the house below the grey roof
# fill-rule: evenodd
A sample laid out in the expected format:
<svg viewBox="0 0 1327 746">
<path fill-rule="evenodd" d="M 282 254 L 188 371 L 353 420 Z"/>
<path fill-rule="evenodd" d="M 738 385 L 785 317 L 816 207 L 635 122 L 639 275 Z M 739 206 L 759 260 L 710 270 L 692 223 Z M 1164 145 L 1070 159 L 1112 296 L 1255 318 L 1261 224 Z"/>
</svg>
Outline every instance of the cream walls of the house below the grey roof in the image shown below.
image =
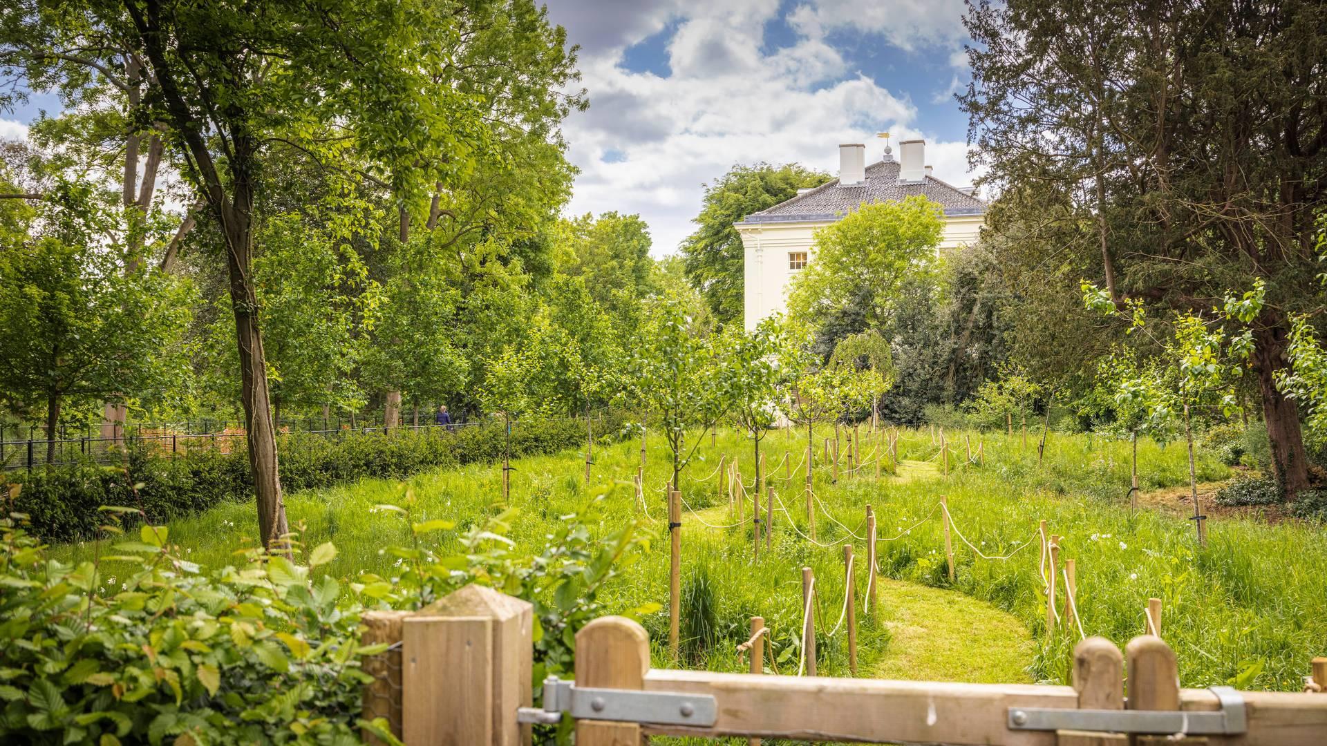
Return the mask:
<svg viewBox="0 0 1327 746">
<path fill-rule="evenodd" d="M 977 242 L 982 215 L 949 215 L 940 248 L 958 248 Z M 743 288 L 744 324 L 750 332 L 762 319 L 787 312 L 788 283 L 800 269 L 788 268 L 788 254 L 807 252 L 807 264 L 816 260 L 812 235 L 824 223 L 759 223 L 738 226 L 746 252 Z"/>
</svg>

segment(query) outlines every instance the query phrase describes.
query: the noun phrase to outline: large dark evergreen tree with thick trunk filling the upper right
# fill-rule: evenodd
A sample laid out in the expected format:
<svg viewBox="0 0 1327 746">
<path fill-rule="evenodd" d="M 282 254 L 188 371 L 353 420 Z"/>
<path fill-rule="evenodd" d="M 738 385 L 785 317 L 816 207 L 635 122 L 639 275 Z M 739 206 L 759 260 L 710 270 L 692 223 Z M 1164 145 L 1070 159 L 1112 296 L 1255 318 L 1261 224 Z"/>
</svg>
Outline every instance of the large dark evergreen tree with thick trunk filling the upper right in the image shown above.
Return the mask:
<svg viewBox="0 0 1327 746">
<path fill-rule="evenodd" d="M 1116 304 L 1209 313 L 1226 288 L 1263 279 L 1251 362 L 1273 469 L 1304 488 L 1298 410 L 1277 380 L 1289 319 L 1314 303 L 1327 8 L 983 1 L 966 23 L 974 158 L 1026 192 L 1028 243 L 1095 259 Z"/>
</svg>

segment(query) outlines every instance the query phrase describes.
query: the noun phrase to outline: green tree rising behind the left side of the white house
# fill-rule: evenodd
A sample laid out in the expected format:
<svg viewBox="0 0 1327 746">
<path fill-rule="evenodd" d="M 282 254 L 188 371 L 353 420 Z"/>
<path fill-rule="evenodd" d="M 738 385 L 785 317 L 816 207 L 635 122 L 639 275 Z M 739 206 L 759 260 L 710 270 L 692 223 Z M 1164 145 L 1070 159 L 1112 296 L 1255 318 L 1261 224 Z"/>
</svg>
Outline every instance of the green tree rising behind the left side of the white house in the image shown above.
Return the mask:
<svg viewBox="0 0 1327 746">
<path fill-rule="evenodd" d="M 701 291 L 718 325 L 742 323 L 746 271 L 742 236 L 734 223 L 792 199 L 799 188 L 820 186 L 829 174 L 796 163 L 736 165 L 705 187 L 705 206 L 693 220 L 698 227 L 682 242 L 686 279 Z"/>
</svg>

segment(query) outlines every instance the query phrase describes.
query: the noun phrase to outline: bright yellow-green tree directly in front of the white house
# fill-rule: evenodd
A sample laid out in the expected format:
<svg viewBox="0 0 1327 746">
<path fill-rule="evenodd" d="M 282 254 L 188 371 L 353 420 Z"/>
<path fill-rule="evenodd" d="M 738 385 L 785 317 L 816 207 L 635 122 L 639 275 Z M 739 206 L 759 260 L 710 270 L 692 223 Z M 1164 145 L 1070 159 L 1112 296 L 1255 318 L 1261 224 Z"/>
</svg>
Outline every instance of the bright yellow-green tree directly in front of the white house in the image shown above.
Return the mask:
<svg viewBox="0 0 1327 746">
<path fill-rule="evenodd" d="M 933 272 L 943 227 L 940 206 L 918 195 L 863 204 L 820 228 L 815 260 L 788 291 L 788 315 L 819 328 L 855 309 L 867 328 L 886 324 L 898 288 Z"/>
</svg>

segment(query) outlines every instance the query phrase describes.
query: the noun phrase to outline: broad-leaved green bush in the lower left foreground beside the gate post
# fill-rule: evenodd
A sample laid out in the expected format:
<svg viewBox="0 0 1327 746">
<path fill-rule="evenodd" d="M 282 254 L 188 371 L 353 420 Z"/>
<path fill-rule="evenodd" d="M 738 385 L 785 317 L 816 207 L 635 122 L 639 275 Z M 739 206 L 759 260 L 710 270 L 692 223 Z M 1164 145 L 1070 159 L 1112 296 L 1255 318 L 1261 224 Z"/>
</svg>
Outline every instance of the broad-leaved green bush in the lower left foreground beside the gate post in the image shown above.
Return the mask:
<svg viewBox="0 0 1327 746">
<path fill-rule="evenodd" d="M 48 558 L 24 514 L 0 519 L 0 741 L 358 742 L 360 660 L 384 648 L 358 645 L 358 613 L 314 573 L 332 544 L 204 575 L 165 526 L 102 511 L 113 539 L 77 565 Z"/>
</svg>

